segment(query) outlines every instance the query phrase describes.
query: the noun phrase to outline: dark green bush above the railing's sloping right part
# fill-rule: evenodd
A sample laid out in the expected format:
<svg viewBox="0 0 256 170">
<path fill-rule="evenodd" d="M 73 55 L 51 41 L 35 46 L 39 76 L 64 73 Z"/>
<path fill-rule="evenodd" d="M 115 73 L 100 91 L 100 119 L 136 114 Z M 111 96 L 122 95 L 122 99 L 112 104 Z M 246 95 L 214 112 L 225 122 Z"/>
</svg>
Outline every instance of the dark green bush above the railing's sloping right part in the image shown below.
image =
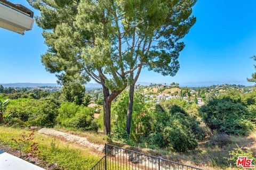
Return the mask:
<svg viewBox="0 0 256 170">
<path fill-rule="evenodd" d="M 158 106 L 159 107 L 159 106 Z M 177 109 L 178 111 L 179 109 Z M 197 140 L 205 137 L 200 123 L 187 113 L 155 113 L 154 132 L 147 139 L 150 146 L 188 151 L 196 148 Z"/>
</svg>

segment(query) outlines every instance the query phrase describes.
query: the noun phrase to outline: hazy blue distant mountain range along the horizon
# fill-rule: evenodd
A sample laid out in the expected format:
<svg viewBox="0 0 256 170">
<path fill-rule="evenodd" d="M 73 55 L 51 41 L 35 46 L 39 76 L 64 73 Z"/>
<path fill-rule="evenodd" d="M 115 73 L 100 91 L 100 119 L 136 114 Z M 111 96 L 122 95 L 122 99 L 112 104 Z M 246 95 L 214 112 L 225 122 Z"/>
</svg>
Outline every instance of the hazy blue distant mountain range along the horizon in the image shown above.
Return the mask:
<svg viewBox="0 0 256 170">
<path fill-rule="evenodd" d="M 152 82 L 156 83 L 156 82 Z M 33 88 L 33 87 L 61 87 L 57 83 L 0 83 L 0 85 L 3 85 L 3 87 L 28 87 L 28 88 Z M 149 86 L 151 82 L 137 82 L 137 84 L 141 84 L 143 86 Z M 164 84 L 164 83 L 156 83 L 156 84 Z M 166 83 L 166 84 L 170 84 Z M 206 86 L 212 86 L 212 85 L 218 85 L 218 84 L 241 84 L 245 86 L 253 86 L 255 83 L 250 83 L 246 81 L 228 81 L 228 82 L 221 82 L 221 81 L 202 81 L 202 82 L 187 82 L 187 83 L 180 83 L 181 87 L 206 87 Z M 96 89 L 96 88 L 101 88 L 101 84 L 98 83 L 87 83 L 85 84 L 85 88 L 87 89 Z"/>
</svg>

